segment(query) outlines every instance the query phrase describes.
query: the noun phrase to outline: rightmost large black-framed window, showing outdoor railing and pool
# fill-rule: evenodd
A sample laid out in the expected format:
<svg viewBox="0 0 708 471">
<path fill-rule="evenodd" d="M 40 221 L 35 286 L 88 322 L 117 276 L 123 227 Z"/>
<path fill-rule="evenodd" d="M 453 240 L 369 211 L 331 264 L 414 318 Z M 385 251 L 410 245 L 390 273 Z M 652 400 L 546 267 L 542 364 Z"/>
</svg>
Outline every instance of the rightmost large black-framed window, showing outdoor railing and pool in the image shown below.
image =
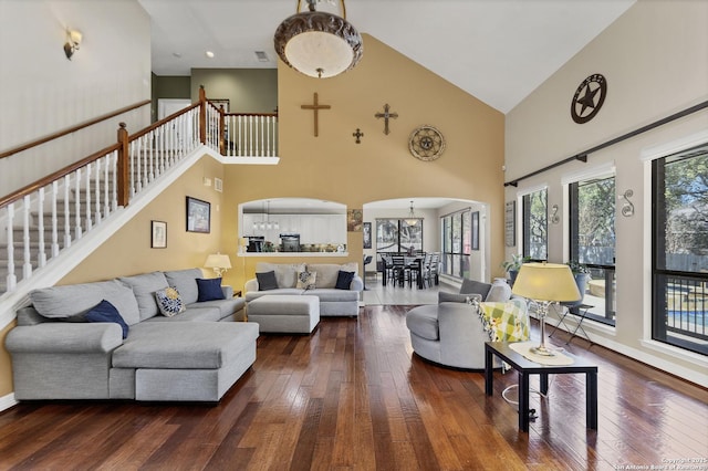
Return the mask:
<svg viewBox="0 0 708 471">
<path fill-rule="evenodd" d="M 652 338 L 708 355 L 708 145 L 653 161 Z"/>
</svg>

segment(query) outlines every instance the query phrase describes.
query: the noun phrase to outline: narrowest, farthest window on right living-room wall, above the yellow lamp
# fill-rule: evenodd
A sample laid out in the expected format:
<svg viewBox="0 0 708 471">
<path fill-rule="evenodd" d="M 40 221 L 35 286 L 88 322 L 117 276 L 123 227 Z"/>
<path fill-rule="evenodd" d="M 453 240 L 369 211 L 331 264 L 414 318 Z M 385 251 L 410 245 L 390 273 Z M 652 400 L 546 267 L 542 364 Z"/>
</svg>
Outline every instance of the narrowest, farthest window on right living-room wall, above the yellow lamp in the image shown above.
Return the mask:
<svg viewBox="0 0 708 471">
<path fill-rule="evenodd" d="M 548 260 L 548 190 L 533 191 L 522 197 L 523 257 Z"/>
</svg>

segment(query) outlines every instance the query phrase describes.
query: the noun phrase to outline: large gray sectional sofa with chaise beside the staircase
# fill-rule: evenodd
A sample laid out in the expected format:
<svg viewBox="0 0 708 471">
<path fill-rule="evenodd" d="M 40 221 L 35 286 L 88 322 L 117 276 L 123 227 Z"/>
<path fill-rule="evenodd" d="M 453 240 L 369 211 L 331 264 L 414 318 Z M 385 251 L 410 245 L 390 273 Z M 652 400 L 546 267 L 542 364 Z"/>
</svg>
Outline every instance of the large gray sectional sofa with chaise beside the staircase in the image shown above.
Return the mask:
<svg viewBox="0 0 708 471">
<path fill-rule="evenodd" d="M 169 306 L 186 311 L 162 313 L 155 293 L 168 286 L 178 292 Z M 30 300 L 6 341 L 18 400 L 218 401 L 256 360 L 258 324 L 226 322 L 244 300 L 200 269 L 52 286 Z M 125 325 L 101 322 L 104 311 Z"/>
</svg>

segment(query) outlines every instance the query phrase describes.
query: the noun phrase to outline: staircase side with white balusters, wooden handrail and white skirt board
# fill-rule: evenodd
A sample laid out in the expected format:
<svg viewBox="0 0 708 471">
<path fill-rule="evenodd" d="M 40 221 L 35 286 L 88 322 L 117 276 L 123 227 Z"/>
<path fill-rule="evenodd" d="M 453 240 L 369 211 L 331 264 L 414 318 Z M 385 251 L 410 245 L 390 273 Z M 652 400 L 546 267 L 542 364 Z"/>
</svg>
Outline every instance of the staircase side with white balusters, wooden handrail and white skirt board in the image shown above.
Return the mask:
<svg viewBox="0 0 708 471">
<path fill-rule="evenodd" d="M 199 103 L 133 135 L 122 124 L 116 145 L 0 198 L 0 328 L 205 154 L 277 164 L 275 143 L 277 115 L 227 115 L 202 90 Z"/>
</svg>

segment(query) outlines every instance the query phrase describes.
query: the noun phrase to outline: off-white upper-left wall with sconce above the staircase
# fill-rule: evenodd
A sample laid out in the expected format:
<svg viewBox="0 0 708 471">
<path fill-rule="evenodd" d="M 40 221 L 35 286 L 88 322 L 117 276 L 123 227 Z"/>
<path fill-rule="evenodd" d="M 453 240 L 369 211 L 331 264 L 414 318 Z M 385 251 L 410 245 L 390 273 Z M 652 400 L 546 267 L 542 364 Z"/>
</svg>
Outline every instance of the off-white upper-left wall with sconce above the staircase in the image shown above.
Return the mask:
<svg viewBox="0 0 708 471">
<path fill-rule="evenodd" d="M 83 33 L 71 61 L 66 29 Z M 150 21 L 136 0 L 0 1 L 0 150 L 150 97 Z M 0 159 L 0 196 L 149 124 L 150 107 Z"/>
</svg>

